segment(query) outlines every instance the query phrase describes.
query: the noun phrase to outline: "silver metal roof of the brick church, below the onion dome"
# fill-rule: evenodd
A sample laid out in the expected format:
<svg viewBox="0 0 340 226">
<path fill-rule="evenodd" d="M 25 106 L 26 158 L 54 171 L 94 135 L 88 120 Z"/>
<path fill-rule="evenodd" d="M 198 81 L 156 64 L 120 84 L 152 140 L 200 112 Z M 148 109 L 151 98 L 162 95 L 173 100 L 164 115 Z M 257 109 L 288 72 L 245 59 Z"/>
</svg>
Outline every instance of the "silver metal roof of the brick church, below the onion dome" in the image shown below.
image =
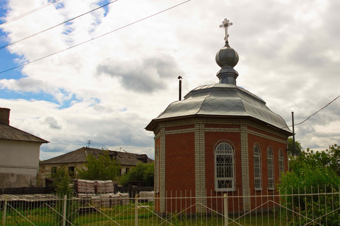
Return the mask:
<svg viewBox="0 0 340 226">
<path fill-rule="evenodd" d="M 261 98 L 236 85 L 223 83 L 191 90 L 184 100 L 171 103 L 152 122 L 190 115 L 248 116 L 292 133 L 283 118 L 272 112 Z"/>
</svg>

